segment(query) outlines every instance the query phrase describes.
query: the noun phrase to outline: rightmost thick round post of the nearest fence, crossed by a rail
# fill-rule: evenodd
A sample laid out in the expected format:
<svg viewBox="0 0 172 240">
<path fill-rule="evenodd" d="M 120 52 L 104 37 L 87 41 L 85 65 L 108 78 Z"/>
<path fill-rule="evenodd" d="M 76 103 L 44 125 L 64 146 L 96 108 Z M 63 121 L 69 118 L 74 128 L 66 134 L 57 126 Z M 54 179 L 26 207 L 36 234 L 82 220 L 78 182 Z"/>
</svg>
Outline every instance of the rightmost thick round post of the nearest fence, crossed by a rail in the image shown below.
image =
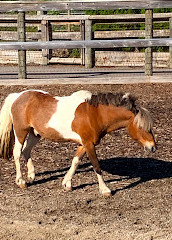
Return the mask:
<svg viewBox="0 0 172 240">
<path fill-rule="evenodd" d="M 145 12 L 145 38 L 153 38 L 153 10 L 148 9 Z M 152 48 L 145 49 L 145 75 L 151 76 L 153 66 Z"/>
</svg>

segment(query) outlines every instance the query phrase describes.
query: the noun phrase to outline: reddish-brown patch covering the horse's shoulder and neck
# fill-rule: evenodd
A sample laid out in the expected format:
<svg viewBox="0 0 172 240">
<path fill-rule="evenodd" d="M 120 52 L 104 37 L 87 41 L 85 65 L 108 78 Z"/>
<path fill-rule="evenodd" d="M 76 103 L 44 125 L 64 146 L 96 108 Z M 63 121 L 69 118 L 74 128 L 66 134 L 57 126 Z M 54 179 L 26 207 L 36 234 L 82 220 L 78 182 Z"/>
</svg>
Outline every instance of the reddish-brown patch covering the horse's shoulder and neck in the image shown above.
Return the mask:
<svg viewBox="0 0 172 240">
<path fill-rule="evenodd" d="M 134 114 L 124 107 L 112 104 L 98 104 L 94 106 L 89 102 L 82 103 L 75 112 L 72 129 L 78 133 L 85 142 L 98 144 L 100 139 L 112 129 L 126 127 Z"/>
</svg>

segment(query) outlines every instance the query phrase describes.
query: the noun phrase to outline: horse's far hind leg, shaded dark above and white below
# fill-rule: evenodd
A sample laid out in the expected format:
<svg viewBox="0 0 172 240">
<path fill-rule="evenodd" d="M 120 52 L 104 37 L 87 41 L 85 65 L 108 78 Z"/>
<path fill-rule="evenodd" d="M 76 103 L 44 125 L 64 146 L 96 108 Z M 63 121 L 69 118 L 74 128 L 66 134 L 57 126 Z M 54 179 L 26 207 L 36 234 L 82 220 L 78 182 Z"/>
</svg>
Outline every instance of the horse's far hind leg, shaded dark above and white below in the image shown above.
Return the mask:
<svg viewBox="0 0 172 240">
<path fill-rule="evenodd" d="M 28 168 L 27 177 L 30 182 L 33 182 L 33 180 L 35 179 L 35 169 L 31 159 L 31 150 L 38 143 L 39 139 L 40 139 L 40 136 L 39 135 L 36 136 L 33 132 L 33 129 L 31 129 L 29 132 L 28 139 L 26 140 L 23 146 L 22 154 L 24 155 L 24 158 L 27 161 L 27 168 Z"/>
</svg>

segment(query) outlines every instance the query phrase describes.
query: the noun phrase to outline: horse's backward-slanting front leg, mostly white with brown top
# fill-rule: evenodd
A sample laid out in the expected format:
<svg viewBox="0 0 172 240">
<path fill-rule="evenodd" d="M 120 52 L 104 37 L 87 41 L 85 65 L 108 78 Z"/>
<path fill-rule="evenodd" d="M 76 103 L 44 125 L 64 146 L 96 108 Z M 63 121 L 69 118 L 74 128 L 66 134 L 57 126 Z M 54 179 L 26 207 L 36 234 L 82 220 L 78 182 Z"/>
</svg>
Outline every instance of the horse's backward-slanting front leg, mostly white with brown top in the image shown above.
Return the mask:
<svg viewBox="0 0 172 240">
<path fill-rule="evenodd" d="M 82 157 L 85 154 L 85 147 L 83 146 L 79 146 L 75 157 L 72 160 L 72 164 L 71 167 L 69 169 L 69 171 L 66 173 L 63 182 L 62 182 L 62 186 L 66 191 L 71 191 L 72 190 L 72 177 L 75 174 L 75 171 L 79 165 L 80 160 L 82 159 Z"/>
</svg>

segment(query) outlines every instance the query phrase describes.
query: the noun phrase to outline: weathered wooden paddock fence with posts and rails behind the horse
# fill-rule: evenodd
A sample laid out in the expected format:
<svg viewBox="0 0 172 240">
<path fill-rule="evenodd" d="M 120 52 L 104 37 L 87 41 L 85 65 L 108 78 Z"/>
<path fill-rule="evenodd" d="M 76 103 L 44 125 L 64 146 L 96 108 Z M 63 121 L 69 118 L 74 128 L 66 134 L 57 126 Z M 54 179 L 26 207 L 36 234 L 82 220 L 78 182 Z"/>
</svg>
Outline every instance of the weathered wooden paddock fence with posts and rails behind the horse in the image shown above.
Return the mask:
<svg viewBox="0 0 172 240">
<path fill-rule="evenodd" d="M 85 60 L 85 66 L 87 68 L 93 66 L 94 62 L 94 50 L 103 48 L 114 48 L 114 47 L 146 47 L 145 51 L 145 74 L 152 75 L 152 46 L 169 46 L 170 55 L 172 59 L 172 39 L 171 38 L 153 38 L 153 21 L 157 20 L 168 20 L 170 23 L 169 35 L 172 37 L 172 15 L 169 14 L 154 14 L 152 8 L 160 7 L 172 7 L 170 1 L 89 1 L 89 2 L 74 2 L 74 1 L 58 1 L 58 2 L 38 2 L 38 1 L 15 1 L 15 2 L 0 2 L 1 12 L 7 11 L 19 11 L 18 17 L 15 15 L 5 17 L 0 16 L 1 24 L 10 23 L 10 18 L 13 24 L 18 24 L 18 39 L 20 42 L 1 42 L 0 49 L 17 49 L 19 52 L 19 78 L 26 78 L 26 50 L 27 49 L 43 49 L 44 64 L 48 62 L 50 56 L 49 49 L 56 48 L 81 48 L 85 49 L 83 59 Z M 137 14 L 132 16 L 124 15 L 108 15 L 108 16 L 27 16 L 25 17 L 24 11 L 32 10 L 70 10 L 70 9 L 140 9 L 144 8 L 146 14 Z M 30 19 L 29 19 L 30 18 Z M 34 22 L 35 21 L 35 22 Z M 146 39 L 116 39 L 116 40 L 95 40 L 92 33 L 92 24 L 96 22 L 106 23 L 133 23 L 133 22 L 145 22 L 145 38 Z M 35 24 L 41 22 L 41 42 L 25 42 L 25 23 Z M 51 41 L 52 31 L 51 23 L 65 22 L 69 24 L 71 22 L 78 22 L 81 26 L 81 39 L 82 41 Z M 170 60 L 171 61 L 171 60 Z M 172 61 L 171 61 L 172 62 Z"/>
</svg>

